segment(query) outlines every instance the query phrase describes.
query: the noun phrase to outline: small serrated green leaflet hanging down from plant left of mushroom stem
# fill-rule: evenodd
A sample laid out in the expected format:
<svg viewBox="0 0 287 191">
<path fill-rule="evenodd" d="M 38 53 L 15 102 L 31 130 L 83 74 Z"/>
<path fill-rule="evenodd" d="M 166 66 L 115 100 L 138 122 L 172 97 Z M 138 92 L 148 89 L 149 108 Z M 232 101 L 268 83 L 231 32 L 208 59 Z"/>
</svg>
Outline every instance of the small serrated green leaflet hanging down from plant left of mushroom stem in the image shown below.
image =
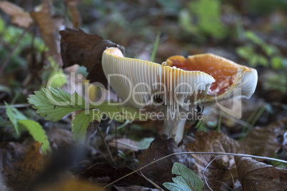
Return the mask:
<svg viewBox="0 0 287 191">
<path fill-rule="evenodd" d="M 83 142 L 86 138 L 86 129 L 88 128 L 89 123 L 93 122 L 93 114 L 91 111 L 86 113 L 87 111 L 83 110 L 78 115 L 75 115 L 73 120 L 72 132 L 74 133 L 74 140 L 79 140 Z"/>
</svg>

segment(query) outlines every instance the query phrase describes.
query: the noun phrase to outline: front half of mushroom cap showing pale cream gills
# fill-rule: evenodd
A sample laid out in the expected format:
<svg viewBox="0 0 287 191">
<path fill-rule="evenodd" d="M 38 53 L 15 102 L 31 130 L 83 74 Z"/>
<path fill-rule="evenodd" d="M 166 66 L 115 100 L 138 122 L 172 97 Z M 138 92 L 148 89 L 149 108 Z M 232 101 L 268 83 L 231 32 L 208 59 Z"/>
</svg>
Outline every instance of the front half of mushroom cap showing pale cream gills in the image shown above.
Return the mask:
<svg viewBox="0 0 287 191">
<path fill-rule="evenodd" d="M 188 110 L 192 103 L 205 98 L 215 81 L 202 71 L 181 68 L 134 58 L 125 58 L 119 48 L 107 48 L 102 67 L 111 88 L 124 103 L 143 108 L 152 98 L 175 111 L 181 106 Z"/>
</svg>

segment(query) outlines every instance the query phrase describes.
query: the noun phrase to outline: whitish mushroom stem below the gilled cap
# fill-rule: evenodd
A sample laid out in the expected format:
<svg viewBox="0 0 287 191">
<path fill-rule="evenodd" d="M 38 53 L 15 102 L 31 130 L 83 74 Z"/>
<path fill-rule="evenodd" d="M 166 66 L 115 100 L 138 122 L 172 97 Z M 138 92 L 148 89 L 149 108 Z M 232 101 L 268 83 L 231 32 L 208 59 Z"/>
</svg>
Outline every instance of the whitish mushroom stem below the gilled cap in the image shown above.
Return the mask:
<svg viewBox="0 0 287 191">
<path fill-rule="evenodd" d="M 163 122 L 164 134 L 168 135 L 168 138 L 174 138 L 177 144 L 181 142 L 186 118 L 178 118 L 178 112 L 174 116 L 168 115 L 167 111 Z"/>
</svg>

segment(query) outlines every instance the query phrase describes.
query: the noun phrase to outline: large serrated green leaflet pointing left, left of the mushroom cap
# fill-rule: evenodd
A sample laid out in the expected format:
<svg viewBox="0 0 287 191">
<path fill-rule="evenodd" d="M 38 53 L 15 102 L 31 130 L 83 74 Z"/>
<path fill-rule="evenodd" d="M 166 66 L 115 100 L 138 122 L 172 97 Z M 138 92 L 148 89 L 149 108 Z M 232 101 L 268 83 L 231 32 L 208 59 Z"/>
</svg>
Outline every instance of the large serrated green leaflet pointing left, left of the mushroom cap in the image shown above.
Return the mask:
<svg viewBox="0 0 287 191">
<path fill-rule="evenodd" d="M 33 108 L 41 117 L 53 121 L 60 120 L 75 110 L 84 109 L 86 105 L 84 98 L 78 93 L 71 96 L 59 88 L 42 88 L 35 95 L 30 95 L 28 102 L 34 105 Z"/>
</svg>

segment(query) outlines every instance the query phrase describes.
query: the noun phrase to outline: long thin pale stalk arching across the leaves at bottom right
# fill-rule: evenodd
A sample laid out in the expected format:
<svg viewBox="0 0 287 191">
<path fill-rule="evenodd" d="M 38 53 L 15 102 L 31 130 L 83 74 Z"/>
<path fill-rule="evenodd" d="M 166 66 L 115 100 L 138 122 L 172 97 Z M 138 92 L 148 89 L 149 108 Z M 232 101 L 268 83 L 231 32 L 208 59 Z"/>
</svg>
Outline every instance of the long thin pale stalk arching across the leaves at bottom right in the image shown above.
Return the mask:
<svg viewBox="0 0 287 191">
<path fill-rule="evenodd" d="M 254 155 L 245 155 L 245 154 L 236 154 L 236 153 L 210 153 L 210 152 L 183 152 L 183 153 L 172 153 L 170 155 L 166 155 L 163 158 L 159 158 L 158 160 L 154 160 L 153 162 L 150 162 L 147 165 L 144 165 L 144 167 L 140 167 L 137 170 L 134 170 L 133 172 L 130 172 L 127 175 L 124 175 L 123 177 L 120 177 L 118 180 L 115 180 L 114 182 L 109 183 L 109 185 L 106 185 L 103 188 L 109 187 L 110 185 L 113 185 L 115 182 L 118 182 L 119 180 L 128 177 L 129 175 L 134 174 L 135 172 L 138 172 L 139 170 L 143 170 L 144 168 L 148 167 L 149 165 L 152 165 L 160 160 L 163 160 L 165 158 L 169 158 L 173 155 L 190 155 L 190 154 L 194 154 L 194 155 L 231 155 L 231 156 L 238 156 L 238 157 L 250 157 L 250 158 L 260 158 L 260 159 L 265 159 L 265 160 L 275 160 L 278 162 L 283 162 L 287 164 L 286 160 L 280 160 L 280 159 L 276 159 L 276 158 L 265 158 L 265 157 L 260 157 L 260 156 L 254 156 Z"/>
</svg>

